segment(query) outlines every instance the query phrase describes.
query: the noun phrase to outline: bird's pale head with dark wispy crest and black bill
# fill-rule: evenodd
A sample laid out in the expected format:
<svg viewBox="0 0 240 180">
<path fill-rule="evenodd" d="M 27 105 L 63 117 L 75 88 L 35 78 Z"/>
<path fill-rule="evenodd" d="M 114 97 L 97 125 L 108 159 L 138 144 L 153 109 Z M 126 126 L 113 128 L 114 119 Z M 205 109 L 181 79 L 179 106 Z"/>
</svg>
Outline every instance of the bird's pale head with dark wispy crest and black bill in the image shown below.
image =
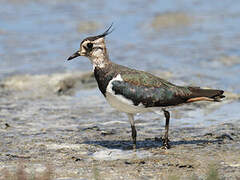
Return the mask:
<svg viewBox="0 0 240 180">
<path fill-rule="evenodd" d="M 88 57 L 91 61 L 98 58 L 108 58 L 104 38 L 113 31 L 113 29 L 110 30 L 111 28 L 112 24 L 104 33 L 85 38 L 81 42 L 79 50 L 71 55 L 67 60 L 72 60 L 78 56 Z"/>
</svg>

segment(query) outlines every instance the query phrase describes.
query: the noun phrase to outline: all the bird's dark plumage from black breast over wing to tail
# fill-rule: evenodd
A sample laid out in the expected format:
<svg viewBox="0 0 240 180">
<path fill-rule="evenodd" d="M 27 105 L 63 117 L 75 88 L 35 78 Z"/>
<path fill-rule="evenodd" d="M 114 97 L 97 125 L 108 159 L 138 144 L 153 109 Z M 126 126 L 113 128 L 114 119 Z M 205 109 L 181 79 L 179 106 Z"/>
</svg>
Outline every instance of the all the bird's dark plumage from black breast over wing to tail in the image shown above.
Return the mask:
<svg viewBox="0 0 240 180">
<path fill-rule="evenodd" d="M 106 96 L 107 86 L 111 81 L 111 91 L 145 107 L 174 106 L 201 100 L 216 100 L 223 93 L 221 90 L 200 89 L 174 85 L 148 72 L 138 71 L 115 63 L 105 68 L 95 68 L 95 78 L 99 89 Z M 114 80 L 120 75 L 122 80 Z"/>
</svg>

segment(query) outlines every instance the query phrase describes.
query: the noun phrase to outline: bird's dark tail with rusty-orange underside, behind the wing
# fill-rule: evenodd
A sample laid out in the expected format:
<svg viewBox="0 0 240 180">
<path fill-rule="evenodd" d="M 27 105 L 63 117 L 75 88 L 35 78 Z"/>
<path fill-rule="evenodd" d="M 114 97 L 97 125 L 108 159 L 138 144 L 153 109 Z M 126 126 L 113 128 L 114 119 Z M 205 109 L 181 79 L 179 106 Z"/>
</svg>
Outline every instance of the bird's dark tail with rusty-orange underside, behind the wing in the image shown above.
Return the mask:
<svg viewBox="0 0 240 180">
<path fill-rule="evenodd" d="M 223 95 L 223 90 L 217 89 L 200 89 L 198 87 L 189 87 L 188 88 L 192 94 L 187 100 L 187 102 L 195 101 L 221 101 L 225 96 Z"/>
</svg>

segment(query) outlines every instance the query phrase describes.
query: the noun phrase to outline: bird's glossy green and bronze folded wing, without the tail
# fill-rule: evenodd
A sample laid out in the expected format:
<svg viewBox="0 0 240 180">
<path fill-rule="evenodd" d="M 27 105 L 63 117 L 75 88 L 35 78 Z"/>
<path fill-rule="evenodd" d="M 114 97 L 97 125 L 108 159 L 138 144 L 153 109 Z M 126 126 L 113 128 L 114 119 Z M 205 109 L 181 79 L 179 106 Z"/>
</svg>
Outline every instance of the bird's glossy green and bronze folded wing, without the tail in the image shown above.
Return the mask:
<svg viewBox="0 0 240 180">
<path fill-rule="evenodd" d="M 137 70 L 121 70 L 122 80 L 112 81 L 116 95 L 130 99 L 134 105 L 164 107 L 186 102 L 191 94 L 188 88 L 176 86 L 150 73 Z"/>
</svg>

